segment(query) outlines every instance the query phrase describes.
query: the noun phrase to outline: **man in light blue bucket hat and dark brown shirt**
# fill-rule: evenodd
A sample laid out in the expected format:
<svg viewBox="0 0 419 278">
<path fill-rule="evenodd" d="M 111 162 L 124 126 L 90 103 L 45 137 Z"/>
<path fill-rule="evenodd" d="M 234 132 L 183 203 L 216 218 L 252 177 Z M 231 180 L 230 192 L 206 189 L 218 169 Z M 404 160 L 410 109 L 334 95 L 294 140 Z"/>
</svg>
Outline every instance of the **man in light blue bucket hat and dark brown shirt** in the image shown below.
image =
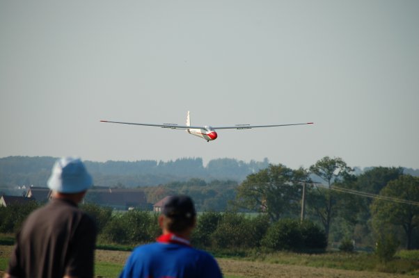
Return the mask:
<svg viewBox="0 0 419 278">
<path fill-rule="evenodd" d="M 79 158 L 56 161 L 52 200 L 25 220 L 5 277 L 93 277 L 96 225 L 77 207 L 92 185 Z"/>
</svg>

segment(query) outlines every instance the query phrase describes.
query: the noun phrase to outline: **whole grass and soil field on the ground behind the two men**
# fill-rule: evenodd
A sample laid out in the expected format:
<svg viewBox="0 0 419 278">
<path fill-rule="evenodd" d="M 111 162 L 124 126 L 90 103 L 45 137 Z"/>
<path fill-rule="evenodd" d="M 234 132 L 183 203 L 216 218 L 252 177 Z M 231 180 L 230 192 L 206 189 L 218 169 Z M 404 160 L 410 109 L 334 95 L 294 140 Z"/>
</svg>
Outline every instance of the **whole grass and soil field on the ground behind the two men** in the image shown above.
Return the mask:
<svg viewBox="0 0 419 278">
<path fill-rule="evenodd" d="M 0 277 L 3 276 L 12 250 L 11 245 L 0 245 Z M 129 251 L 96 250 L 95 277 L 118 277 Z M 418 277 L 419 250 L 402 251 L 386 265 L 367 253 L 248 254 L 245 257 L 216 256 L 226 278 L 255 277 Z"/>
</svg>

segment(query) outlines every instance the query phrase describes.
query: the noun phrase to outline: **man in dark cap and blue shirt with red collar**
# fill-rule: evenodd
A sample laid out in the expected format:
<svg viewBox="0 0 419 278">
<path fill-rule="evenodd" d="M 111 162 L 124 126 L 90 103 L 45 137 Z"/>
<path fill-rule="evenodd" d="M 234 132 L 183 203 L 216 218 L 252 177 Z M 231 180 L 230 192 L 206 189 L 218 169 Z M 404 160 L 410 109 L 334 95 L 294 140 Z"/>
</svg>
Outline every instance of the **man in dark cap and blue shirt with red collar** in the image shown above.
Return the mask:
<svg viewBox="0 0 419 278">
<path fill-rule="evenodd" d="M 169 197 L 164 203 L 159 224 L 163 234 L 157 243 L 136 247 L 120 278 L 219 278 L 215 259 L 191 247 L 189 239 L 196 224 L 196 211 L 187 196 Z"/>
</svg>

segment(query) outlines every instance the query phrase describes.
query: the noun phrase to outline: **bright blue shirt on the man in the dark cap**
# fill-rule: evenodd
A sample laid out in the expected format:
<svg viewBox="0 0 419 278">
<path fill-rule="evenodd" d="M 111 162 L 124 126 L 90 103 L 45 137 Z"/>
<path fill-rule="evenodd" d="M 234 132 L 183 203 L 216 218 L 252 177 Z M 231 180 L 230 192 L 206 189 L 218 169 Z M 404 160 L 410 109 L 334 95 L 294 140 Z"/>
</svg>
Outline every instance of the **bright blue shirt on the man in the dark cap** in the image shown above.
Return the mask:
<svg viewBox="0 0 419 278">
<path fill-rule="evenodd" d="M 219 278 L 213 256 L 178 243 L 150 243 L 136 247 L 120 278 Z"/>
</svg>

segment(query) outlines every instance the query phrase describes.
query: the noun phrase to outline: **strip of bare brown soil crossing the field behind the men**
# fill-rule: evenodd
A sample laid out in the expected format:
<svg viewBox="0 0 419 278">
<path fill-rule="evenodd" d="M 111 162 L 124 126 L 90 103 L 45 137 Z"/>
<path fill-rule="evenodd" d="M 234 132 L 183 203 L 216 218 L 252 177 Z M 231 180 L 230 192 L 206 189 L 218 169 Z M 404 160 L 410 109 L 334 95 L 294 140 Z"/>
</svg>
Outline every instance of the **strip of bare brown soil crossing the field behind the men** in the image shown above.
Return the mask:
<svg viewBox="0 0 419 278">
<path fill-rule="evenodd" d="M 12 250 L 11 246 L 0 246 L 0 256 L 8 257 Z M 95 260 L 123 265 L 130 252 L 96 250 Z M 262 263 L 254 261 L 239 261 L 232 259 L 217 259 L 224 275 L 241 278 L 411 278 L 408 275 L 390 275 L 380 272 L 336 270 L 332 268 L 312 268 L 298 265 L 280 265 L 275 263 Z M 4 272 L 0 270 L 0 278 Z"/>
</svg>

